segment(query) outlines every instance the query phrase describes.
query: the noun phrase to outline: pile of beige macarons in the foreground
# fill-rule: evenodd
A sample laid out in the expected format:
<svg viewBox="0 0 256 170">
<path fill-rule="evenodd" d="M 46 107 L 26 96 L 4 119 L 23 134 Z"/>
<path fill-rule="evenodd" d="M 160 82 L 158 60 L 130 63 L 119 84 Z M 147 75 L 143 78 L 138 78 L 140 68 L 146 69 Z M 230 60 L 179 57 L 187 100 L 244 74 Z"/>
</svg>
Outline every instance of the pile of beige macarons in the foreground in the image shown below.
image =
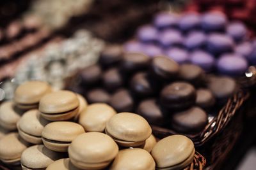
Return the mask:
<svg viewBox="0 0 256 170">
<path fill-rule="evenodd" d="M 140 115 L 79 94 L 27 81 L 0 105 L 0 162 L 10 169 L 184 169 L 193 162 L 191 139 L 157 142 Z"/>
</svg>

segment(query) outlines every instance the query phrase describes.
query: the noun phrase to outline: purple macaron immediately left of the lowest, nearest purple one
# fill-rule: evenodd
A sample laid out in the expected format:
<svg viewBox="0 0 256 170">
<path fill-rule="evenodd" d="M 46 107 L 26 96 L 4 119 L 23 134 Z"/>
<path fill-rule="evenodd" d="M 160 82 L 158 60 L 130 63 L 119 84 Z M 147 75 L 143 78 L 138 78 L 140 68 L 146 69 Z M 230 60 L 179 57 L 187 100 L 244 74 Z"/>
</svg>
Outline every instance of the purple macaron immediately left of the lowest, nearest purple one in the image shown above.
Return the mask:
<svg viewBox="0 0 256 170">
<path fill-rule="evenodd" d="M 209 72 L 215 66 L 215 58 L 203 50 L 196 50 L 191 53 L 189 60 L 192 64 L 202 67 L 204 71 Z"/>
</svg>

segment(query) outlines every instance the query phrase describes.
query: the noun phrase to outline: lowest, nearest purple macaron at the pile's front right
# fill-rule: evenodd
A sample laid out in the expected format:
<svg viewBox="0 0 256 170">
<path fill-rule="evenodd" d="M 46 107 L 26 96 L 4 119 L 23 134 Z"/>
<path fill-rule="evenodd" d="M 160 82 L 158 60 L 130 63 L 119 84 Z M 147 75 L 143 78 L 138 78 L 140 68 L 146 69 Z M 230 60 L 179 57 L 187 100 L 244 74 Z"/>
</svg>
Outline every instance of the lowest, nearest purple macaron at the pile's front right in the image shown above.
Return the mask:
<svg viewBox="0 0 256 170">
<path fill-rule="evenodd" d="M 234 53 L 221 55 L 217 62 L 218 71 L 228 76 L 241 76 L 248 68 L 248 62 L 244 57 Z"/>
</svg>

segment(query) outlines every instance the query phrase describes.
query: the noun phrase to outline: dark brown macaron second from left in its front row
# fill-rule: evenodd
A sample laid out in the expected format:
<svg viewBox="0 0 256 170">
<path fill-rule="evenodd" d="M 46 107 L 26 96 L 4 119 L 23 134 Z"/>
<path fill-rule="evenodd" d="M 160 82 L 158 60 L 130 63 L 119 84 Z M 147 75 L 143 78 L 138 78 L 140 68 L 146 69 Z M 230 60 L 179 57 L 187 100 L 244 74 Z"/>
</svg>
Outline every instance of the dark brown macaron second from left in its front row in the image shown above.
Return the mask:
<svg viewBox="0 0 256 170">
<path fill-rule="evenodd" d="M 109 104 L 117 112 L 129 112 L 134 109 L 134 101 L 131 94 L 129 94 L 129 91 L 126 89 L 120 89 L 116 91 L 112 95 Z"/>
</svg>

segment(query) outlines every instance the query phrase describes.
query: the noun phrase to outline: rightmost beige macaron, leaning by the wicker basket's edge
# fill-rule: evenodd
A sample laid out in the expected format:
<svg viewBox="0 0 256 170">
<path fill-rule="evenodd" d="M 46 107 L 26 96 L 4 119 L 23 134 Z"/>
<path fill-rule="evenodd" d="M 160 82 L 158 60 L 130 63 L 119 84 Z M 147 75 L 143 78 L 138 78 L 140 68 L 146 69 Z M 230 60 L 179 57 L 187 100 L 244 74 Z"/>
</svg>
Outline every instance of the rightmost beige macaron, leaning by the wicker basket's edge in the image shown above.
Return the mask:
<svg viewBox="0 0 256 170">
<path fill-rule="evenodd" d="M 173 135 L 158 141 L 151 155 L 156 169 L 183 169 L 193 162 L 195 147 L 186 136 Z"/>
</svg>

